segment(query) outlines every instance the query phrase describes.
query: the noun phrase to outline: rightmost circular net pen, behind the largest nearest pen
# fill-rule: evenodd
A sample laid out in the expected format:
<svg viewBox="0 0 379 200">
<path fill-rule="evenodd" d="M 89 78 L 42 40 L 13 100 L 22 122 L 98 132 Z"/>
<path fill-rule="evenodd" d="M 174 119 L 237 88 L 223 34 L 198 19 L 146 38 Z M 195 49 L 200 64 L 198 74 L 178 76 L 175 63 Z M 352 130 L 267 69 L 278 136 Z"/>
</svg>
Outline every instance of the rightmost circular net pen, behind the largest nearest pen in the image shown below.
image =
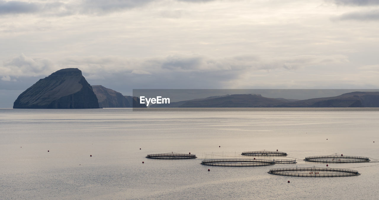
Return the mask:
<svg viewBox="0 0 379 200">
<path fill-rule="evenodd" d="M 370 159 L 366 157 L 341 155 L 311 156 L 305 157 L 304 160 L 319 163 L 363 163 L 370 161 Z"/>
</svg>

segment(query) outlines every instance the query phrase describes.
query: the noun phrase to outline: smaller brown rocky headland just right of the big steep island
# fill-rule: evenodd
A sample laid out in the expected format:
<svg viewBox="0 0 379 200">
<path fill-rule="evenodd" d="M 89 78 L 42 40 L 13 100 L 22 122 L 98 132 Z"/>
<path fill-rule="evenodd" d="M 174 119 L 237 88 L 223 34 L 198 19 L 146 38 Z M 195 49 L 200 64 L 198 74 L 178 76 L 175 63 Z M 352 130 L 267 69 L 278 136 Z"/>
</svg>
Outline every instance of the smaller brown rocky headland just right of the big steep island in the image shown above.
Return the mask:
<svg viewBox="0 0 379 200">
<path fill-rule="evenodd" d="M 129 103 L 121 93 L 103 87 L 102 85 L 92 85 L 94 93 L 102 108 L 131 108 Z"/>
</svg>

